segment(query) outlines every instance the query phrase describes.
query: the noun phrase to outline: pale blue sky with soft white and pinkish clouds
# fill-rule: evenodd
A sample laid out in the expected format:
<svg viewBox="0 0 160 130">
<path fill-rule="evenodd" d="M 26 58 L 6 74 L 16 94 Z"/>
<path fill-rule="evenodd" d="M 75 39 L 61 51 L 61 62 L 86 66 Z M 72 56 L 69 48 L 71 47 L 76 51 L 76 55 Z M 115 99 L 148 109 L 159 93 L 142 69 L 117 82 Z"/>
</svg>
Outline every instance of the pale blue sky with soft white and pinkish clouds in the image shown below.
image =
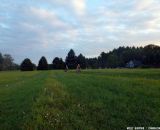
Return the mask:
<svg viewBox="0 0 160 130">
<path fill-rule="evenodd" d="M 16 63 L 160 45 L 160 0 L 0 0 L 0 52 Z"/>
</svg>

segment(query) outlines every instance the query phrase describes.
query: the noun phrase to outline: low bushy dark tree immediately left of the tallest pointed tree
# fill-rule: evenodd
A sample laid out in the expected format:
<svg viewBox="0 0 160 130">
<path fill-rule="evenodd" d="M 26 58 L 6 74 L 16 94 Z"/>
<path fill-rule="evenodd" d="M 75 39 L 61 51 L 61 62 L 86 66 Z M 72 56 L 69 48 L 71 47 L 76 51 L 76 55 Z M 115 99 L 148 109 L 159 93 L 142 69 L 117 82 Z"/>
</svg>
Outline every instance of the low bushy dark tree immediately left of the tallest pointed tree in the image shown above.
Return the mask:
<svg viewBox="0 0 160 130">
<path fill-rule="evenodd" d="M 65 63 L 63 62 L 62 58 L 54 58 L 53 62 L 53 69 L 64 69 Z"/>
</svg>

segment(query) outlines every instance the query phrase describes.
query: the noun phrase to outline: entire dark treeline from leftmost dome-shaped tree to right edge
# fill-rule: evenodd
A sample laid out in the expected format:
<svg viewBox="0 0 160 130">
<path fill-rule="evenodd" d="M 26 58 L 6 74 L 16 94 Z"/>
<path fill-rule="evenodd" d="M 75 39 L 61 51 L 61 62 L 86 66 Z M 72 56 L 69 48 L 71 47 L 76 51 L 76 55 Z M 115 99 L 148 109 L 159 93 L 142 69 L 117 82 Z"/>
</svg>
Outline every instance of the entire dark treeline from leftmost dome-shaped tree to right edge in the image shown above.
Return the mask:
<svg viewBox="0 0 160 130">
<path fill-rule="evenodd" d="M 21 64 L 21 70 L 48 70 L 48 69 L 75 69 L 80 64 L 82 69 L 98 68 L 134 68 L 134 67 L 160 67 L 160 47 L 156 45 L 147 45 L 145 47 L 119 47 L 110 52 L 102 52 L 95 58 L 86 58 L 82 54 L 76 56 L 71 49 L 66 56 L 65 61 L 56 57 L 52 64 L 48 64 L 47 59 L 43 56 L 36 67 L 30 59 L 25 59 Z"/>
</svg>

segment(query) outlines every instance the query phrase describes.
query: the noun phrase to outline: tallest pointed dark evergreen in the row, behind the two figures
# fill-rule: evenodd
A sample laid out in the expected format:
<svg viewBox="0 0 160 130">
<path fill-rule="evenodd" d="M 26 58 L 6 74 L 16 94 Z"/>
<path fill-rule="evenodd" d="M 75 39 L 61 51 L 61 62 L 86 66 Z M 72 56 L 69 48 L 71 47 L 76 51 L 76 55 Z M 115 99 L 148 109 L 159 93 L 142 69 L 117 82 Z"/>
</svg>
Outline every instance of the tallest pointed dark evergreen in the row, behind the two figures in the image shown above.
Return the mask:
<svg viewBox="0 0 160 130">
<path fill-rule="evenodd" d="M 66 57 L 66 64 L 69 69 L 76 69 L 77 57 L 73 49 L 71 49 Z"/>
</svg>

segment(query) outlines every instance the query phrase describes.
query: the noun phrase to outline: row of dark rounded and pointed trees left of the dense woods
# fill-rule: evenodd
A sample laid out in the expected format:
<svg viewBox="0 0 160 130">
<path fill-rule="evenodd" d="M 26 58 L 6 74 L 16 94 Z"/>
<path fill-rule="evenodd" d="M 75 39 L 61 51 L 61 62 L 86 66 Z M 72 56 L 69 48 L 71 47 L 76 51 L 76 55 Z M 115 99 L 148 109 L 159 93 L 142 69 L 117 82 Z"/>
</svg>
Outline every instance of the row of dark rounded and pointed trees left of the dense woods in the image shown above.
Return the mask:
<svg viewBox="0 0 160 130">
<path fill-rule="evenodd" d="M 28 58 L 24 59 L 24 61 L 20 65 L 20 69 L 22 71 L 32 71 L 32 70 L 60 70 L 65 69 L 66 66 L 69 69 L 75 69 L 77 64 L 81 65 L 82 69 L 86 69 L 86 58 L 80 54 L 79 56 L 75 55 L 73 49 L 71 49 L 66 56 L 65 62 L 62 58 L 55 57 L 51 64 L 48 64 L 47 59 L 42 56 L 39 60 L 38 66 L 32 63 L 32 61 Z"/>
</svg>

